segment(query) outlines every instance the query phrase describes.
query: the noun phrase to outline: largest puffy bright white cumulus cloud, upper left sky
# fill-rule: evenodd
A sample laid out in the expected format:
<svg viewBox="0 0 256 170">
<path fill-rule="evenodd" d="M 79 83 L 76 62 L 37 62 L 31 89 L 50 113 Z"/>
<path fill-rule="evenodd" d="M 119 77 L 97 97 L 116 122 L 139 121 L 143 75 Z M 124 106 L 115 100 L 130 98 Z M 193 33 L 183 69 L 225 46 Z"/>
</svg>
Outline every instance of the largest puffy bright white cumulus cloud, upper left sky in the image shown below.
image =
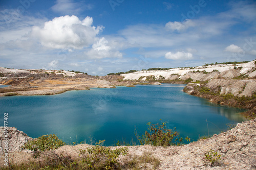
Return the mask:
<svg viewBox="0 0 256 170">
<path fill-rule="evenodd" d="M 103 27 L 92 26 L 93 18 L 82 21 L 77 16 L 61 16 L 45 22 L 44 28 L 34 26 L 32 36 L 38 38 L 42 45 L 56 49 L 81 49 L 93 44 Z"/>
</svg>

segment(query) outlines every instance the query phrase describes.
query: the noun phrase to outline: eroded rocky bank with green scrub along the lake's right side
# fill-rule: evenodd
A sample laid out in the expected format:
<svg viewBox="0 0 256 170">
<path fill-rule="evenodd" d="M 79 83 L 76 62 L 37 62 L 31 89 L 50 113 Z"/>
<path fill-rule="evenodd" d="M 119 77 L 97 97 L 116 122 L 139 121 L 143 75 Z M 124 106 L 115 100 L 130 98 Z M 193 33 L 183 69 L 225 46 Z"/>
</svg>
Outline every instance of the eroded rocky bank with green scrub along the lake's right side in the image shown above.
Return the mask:
<svg viewBox="0 0 256 170">
<path fill-rule="evenodd" d="M 188 83 L 184 92 L 208 99 L 212 103 L 249 109 L 243 114 L 256 117 L 256 80 L 212 79 L 207 83 Z"/>
</svg>

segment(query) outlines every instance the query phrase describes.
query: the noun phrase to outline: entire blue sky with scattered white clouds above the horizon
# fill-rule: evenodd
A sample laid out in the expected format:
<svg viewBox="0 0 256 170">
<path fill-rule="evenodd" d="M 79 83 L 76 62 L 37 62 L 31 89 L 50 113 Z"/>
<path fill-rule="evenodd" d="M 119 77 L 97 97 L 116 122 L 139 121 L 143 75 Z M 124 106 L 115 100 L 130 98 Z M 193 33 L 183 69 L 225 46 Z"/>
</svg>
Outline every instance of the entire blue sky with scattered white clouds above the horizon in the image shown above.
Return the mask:
<svg viewBox="0 0 256 170">
<path fill-rule="evenodd" d="M 0 1 L 0 66 L 106 75 L 256 59 L 255 1 Z"/>
</svg>

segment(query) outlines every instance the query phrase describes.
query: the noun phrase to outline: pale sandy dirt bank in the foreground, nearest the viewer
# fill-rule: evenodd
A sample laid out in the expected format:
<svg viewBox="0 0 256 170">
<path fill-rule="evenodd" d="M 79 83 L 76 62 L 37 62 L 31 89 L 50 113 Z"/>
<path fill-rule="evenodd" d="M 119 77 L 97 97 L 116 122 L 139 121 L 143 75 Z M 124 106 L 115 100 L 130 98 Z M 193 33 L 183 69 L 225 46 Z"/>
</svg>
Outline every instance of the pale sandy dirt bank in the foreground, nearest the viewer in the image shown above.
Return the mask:
<svg viewBox="0 0 256 170">
<path fill-rule="evenodd" d="M 0 128 L 1 149 L 4 146 L 3 129 L 3 127 Z M 10 160 L 12 163 L 24 163 L 33 160 L 31 153 L 21 150 L 21 146 L 28 140 L 31 140 L 31 138 L 25 133 L 16 130 L 16 128 L 9 129 L 9 157 L 12 158 Z M 76 151 L 87 147 L 91 147 L 91 145 L 65 145 L 59 148 L 57 153 L 70 156 L 72 159 L 79 159 L 80 156 Z M 150 153 L 152 157 L 160 160 L 157 169 L 255 169 L 256 119 L 238 124 L 235 128 L 211 138 L 201 139 L 179 147 L 163 148 L 141 145 L 130 146 L 128 149 L 129 154 L 121 156 L 119 160 L 123 169 L 129 169 L 125 167 L 127 160 L 133 159 L 136 155 L 142 156 L 144 153 Z M 221 155 L 221 159 L 214 166 L 210 166 L 205 158 L 205 154 L 210 150 Z M 4 165 L 3 161 L 2 155 L 0 159 L 1 166 Z M 139 165 L 138 168 L 142 168 L 142 165 Z M 148 165 L 147 169 L 152 169 L 152 166 Z"/>
</svg>

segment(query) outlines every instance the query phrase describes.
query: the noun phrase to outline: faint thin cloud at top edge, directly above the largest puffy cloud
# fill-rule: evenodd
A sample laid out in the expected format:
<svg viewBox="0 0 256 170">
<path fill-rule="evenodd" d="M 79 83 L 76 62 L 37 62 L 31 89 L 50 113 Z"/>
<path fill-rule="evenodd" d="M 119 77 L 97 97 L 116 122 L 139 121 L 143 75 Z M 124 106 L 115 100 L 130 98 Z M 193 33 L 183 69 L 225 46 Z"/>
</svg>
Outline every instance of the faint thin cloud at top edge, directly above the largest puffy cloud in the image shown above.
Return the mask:
<svg viewBox="0 0 256 170">
<path fill-rule="evenodd" d="M 79 14 L 83 10 L 92 9 L 92 5 L 84 5 L 84 3 L 73 2 L 72 0 L 57 0 L 56 5 L 51 8 L 54 12 L 62 15 Z"/>
</svg>

